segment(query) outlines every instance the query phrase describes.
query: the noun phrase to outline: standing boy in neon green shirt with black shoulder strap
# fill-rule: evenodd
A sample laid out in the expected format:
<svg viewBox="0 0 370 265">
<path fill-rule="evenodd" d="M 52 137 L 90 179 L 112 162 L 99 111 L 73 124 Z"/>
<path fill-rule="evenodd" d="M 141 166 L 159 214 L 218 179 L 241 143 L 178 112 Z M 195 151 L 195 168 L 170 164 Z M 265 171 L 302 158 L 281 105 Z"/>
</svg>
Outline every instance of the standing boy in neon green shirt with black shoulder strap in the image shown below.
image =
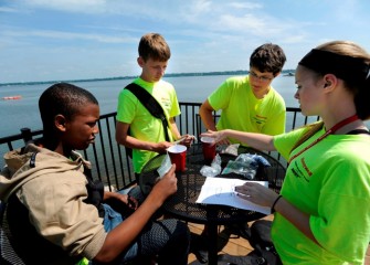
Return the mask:
<svg viewBox="0 0 370 265">
<path fill-rule="evenodd" d="M 160 34 L 148 33 L 141 38 L 138 52 L 137 62 L 142 71 L 134 83 L 149 92 L 161 105 L 169 124 L 169 141 L 165 138 L 161 120 L 155 118 L 131 92 L 123 89 L 118 97 L 116 140 L 133 148 L 135 173 L 140 173 L 144 165 L 157 153 L 166 152 L 173 145 L 171 141 L 181 138 L 173 119 L 181 114 L 176 91 L 170 83 L 161 80 L 171 56 L 170 49 Z M 182 144 L 190 145 L 192 137 L 186 136 Z"/>
</svg>

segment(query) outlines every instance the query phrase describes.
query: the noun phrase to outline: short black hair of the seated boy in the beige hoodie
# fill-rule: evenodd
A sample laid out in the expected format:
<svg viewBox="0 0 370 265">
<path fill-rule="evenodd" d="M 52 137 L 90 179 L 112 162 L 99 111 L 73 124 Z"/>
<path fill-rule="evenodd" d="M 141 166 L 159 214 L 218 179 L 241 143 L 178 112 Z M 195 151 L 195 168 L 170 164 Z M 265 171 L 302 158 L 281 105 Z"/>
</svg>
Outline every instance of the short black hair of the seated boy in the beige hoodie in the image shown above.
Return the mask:
<svg viewBox="0 0 370 265">
<path fill-rule="evenodd" d="M 68 83 L 57 83 L 50 86 L 39 99 L 43 129 L 53 129 L 54 118 L 59 114 L 72 119 L 86 103 L 98 105 L 95 96 L 82 87 Z"/>
</svg>

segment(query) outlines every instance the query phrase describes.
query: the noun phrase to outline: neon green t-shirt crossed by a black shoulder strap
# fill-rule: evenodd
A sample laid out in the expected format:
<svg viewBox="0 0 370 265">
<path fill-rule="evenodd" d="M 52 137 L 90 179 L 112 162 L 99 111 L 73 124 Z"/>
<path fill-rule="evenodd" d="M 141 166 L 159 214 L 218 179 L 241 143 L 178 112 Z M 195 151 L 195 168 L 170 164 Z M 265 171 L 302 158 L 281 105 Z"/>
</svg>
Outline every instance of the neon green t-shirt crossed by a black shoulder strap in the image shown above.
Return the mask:
<svg viewBox="0 0 370 265">
<path fill-rule="evenodd" d="M 149 92 L 163 108 L 167 119 L 181 114 L 179 102 L 173 86 L 165 81 L 148 83 L 136 78 L 134 83 Z M 165 141 L 163 126 L 160 119 L 155 118 L 149 110 L 128 89 L 121 89 L 118 96 L 117 120 L 130 124 L 131 136 L 151 142 Z M 170 140 L 173 139 L 168 129 Z M 146 150 L 134 149 L 133 162 L 135 172 L 139 173 L 146 162 L 157 153 Z"/>
</svg>

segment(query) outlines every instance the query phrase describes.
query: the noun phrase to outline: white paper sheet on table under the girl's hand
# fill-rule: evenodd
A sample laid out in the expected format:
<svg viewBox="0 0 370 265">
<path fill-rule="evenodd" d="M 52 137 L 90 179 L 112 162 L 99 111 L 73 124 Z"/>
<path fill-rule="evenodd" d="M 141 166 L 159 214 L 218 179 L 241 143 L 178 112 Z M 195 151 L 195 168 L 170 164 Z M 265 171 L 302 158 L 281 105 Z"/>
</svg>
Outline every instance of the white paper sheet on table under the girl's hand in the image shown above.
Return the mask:
<svg viewBox="0 0 370 265">
<path fill-rule="evenodd" d="M 269 208 L 260 206 L 236 195 L 236 193 L 234 192 L 235 186 L 242 186 L 245 182 L 249 181 L 240 179 L 207 178 L 202 190 L 198 197 L 197 203 L 229 205 L 269 214 Z M 267 181 L 253 182 L 257 182 L 260 184 L 268 187 Z"/>
</svg>

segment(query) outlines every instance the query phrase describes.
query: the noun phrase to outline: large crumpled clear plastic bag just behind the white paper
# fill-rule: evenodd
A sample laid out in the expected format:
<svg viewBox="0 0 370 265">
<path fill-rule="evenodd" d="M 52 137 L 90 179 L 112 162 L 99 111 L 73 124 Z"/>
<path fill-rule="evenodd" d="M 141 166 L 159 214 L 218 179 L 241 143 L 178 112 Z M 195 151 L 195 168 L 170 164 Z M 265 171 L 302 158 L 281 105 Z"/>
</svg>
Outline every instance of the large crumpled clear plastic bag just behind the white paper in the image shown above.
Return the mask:
<svg viewBox="0 0 370 265">
<path fill-rule="evenodd" d="M 269 162 L 260 155 L 242 153 L 235 159 L 230 160 L 221 174 L 237 173 L 245 179 L 253 180 L 257 173 L 258 166 L 269 167 Z"/>
</svg>

